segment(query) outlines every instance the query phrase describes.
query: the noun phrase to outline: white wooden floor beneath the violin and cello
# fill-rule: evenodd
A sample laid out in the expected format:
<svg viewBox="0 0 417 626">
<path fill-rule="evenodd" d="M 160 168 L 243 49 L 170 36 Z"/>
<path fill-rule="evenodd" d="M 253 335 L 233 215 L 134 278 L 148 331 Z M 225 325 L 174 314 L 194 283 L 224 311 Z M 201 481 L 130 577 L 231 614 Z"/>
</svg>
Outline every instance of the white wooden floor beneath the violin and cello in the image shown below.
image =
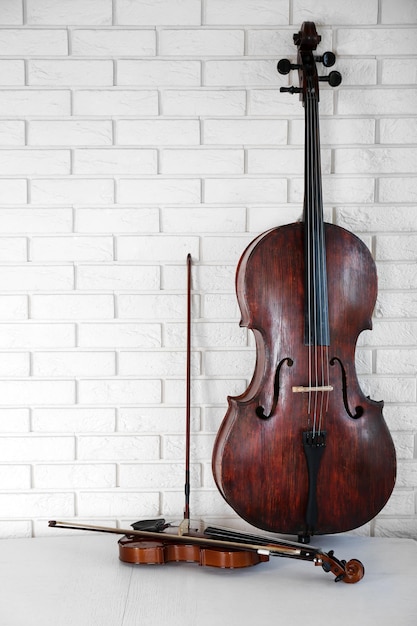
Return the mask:
<svg viewBox="0 0 417 626">
<path fill-rule="evenodd" d="M 1 626 L 416 626 L 417 542 L 337 535 L 314 544 L 357 558 L 365 577 L 334 583 L 313 563 L 242 570 L 128 565 L 117 536 L 0 542 Z"/>
</svg>

